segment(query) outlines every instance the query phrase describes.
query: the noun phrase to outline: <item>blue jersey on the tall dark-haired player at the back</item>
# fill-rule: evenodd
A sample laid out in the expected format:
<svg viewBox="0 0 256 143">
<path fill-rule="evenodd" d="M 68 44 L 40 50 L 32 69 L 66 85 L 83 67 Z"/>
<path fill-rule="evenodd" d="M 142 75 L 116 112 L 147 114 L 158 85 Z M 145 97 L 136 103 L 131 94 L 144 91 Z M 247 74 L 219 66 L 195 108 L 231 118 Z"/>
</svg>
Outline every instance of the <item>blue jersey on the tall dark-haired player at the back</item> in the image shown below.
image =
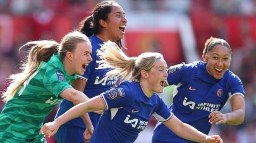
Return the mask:
<svg viewBox="0 0 256 143">
<path fill-rule="evenodd" d="M 99 60 L 99 56 L 97 55 L 97 49 L 100 48 L 100 44 L 103 44 L 103 41 L 99 39 L 97 36 L 93 35 L 89 37 L 91 44 L 92 44 L 92 59 L 93 61 L 89 63 L 89 65 L 86 67 L 86 70 L 84 72 L 83 76 L 77 76 L 77 78 L 84 79 L 87 81 L 84 94 L 87 95 L 89 98 L 92 98 L 94 96 L 100 95 L 102 92 L 105 92 L 111 87 L 113 87 L 116 84 L 117 77 L 109 77 L 108 79 L 105 78 L 105 74 L 109 69 L 95 69 L 98 68 L 98 63 L 96 62 Z M 69 102 L 66 99 L 63 99 L 60 103 L 59 110 L 57 112 L 58 116 L 62 115 L 66 111 L 68 111 L 71 107 L 73 107 L 74 104 L 72 102 Z M 93 127 L 95 128 L 99 122 L 100 115 L 97 113 L 89 113 L 90 119 L 92 121 Z M 70 120 L 67 123 L 68 125 L 75 125 L 77 127 L 85 128 L 85 124 L 81 117 L 77 117 L 76 119 Z"/>
</svg>

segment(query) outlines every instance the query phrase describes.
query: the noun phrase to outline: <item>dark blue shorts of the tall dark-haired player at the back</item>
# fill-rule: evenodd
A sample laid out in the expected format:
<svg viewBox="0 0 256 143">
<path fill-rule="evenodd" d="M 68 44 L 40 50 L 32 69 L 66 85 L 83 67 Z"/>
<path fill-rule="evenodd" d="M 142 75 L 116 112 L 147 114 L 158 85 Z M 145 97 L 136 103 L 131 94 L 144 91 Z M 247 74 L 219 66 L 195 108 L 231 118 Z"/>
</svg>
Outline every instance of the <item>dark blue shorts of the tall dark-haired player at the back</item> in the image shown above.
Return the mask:
<svg viewBox="0 0 256 143">
<path fill-rule="evenodd" d="M 55 137 L 58 143 L 85 143 L 83 135 L 84 131 L 84 128 L 63 124 L 55 134 Z"/>
</svg>

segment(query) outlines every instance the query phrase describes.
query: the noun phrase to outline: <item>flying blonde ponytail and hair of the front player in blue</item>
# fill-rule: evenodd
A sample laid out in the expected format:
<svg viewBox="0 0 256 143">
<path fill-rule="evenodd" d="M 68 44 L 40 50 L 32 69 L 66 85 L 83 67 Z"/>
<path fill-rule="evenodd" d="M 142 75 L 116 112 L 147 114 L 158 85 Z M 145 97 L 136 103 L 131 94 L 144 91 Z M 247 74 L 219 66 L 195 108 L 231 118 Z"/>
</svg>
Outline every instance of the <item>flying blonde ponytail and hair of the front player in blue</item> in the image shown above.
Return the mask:
<svg viewBox="0 0 256 143">
<path fill-rule="evenodd" d="M 162 54 L 155 52 L 142 53 L 138 57 L 128 57 L 111 41 L 101 45 L 101 48 L 97 50 L 97 54 L 101 57 L 97 61 L 99 63 L 98 69 L 113 69 L 106 73 L 107 77 L 124 75 L 123 80 L 129 78 L 131 81 L 138 82 L 140 81 L 141 70 L 150 71 L 157 60 L 163 59 Z"/>
</svg>

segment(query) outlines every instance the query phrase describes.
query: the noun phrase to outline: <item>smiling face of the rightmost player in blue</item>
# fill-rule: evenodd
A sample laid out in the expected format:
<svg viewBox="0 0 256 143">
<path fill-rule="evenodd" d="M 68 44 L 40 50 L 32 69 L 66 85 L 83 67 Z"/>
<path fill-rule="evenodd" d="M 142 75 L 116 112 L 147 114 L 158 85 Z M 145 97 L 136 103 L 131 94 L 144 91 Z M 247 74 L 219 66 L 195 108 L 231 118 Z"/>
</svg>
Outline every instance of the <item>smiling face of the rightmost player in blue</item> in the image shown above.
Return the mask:
<svg viewBox="0 0 256 143">
<path fill-rule="evenodd" d="M 231 51 L 226 46 L 217 45 L 205 55 L 206 70 L 215 79 L 221 79 L 231 62 Z"/>
</svg>

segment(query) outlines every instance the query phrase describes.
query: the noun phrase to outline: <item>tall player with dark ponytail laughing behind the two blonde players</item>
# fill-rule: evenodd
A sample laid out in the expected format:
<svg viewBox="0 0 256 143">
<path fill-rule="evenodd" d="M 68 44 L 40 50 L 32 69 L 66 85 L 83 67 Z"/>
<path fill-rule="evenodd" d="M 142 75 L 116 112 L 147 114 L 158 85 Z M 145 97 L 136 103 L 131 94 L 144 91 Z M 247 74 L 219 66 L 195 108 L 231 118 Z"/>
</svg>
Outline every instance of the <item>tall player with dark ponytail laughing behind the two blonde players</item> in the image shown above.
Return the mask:
<svg viewBox="0 0 256 143">
<path fill-rule="evenodd" d="M 116 85 L 117 76 L 106 78 L 105 73 L 109 69 L 95 69 L 98 67 L 96 62 L 100 57 L 97 55 L 99 44 L 103 41 L 111 40 L 122 48 L 121 39 L 125 33 L 127 20 L 122 6 L 114 1 L 106 1 L 97 4 L 93 9 L 93 14 L 81 21 L 79 30 L 89 37 L 92 44 L 93 61 L 87 66 L 83 76 L 78 76 L 72 82 L 75 89 L 83 91 L 89 98 L 100 95 L 102 92 L 111 89 Z M 56 117 L 62 115 L 74 104 L 68 100 L 62 100 Z M 93 127 L 97 127 L 100 115 L 89 113 Z M 90 139 L 90 134 L 85 132 L 85 124 L 81 117 L 63 124 L 56 133 L 59 143 L 85 142 Z"/>
</svg>

